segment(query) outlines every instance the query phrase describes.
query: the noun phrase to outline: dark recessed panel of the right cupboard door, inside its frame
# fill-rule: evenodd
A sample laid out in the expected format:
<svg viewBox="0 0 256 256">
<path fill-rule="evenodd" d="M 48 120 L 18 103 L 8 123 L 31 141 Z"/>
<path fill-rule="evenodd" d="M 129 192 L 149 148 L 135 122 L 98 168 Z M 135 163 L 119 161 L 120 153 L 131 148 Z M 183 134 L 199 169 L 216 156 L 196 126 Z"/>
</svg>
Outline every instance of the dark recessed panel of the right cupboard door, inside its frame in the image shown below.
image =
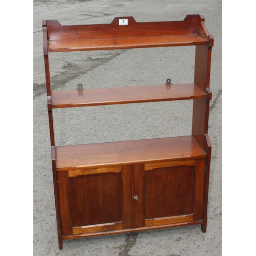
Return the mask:
<svg viewBox="0 0 256 256">
<path fill-rule="evenodd" d="M 145 219 L 193 214 L 194 166 L 145 172 Z"/>
</svg>

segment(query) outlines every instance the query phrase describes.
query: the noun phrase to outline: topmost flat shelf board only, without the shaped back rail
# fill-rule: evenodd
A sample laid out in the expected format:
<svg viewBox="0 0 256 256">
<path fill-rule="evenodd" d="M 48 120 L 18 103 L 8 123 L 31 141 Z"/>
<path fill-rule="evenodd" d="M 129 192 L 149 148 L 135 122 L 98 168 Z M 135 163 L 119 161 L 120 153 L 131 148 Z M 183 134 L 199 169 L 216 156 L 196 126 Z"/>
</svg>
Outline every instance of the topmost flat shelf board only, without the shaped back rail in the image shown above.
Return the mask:
<svg viewBox="0 0 256 256">
<path fill-rule="evenodd" d="M 76 40 L 49 40 L 48 52 L 196 46 L 208 44 L 209 41 L 198 34 L 88 38 Z"/>
</svg>

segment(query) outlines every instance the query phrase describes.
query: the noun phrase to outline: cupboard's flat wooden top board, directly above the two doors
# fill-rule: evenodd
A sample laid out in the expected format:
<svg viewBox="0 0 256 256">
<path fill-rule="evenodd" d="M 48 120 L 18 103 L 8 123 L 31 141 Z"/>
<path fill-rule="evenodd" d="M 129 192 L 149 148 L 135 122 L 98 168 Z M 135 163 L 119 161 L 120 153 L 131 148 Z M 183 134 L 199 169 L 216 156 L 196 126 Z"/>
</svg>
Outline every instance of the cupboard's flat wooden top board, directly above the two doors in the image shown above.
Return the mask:
<svg viewBox="0 0 256 256">
<path fill-rule="evenodd" d="M 152 161 L 206 158 L 192 136 L 56 147 L 58 171 L 140 164 Z"/>
</svg>

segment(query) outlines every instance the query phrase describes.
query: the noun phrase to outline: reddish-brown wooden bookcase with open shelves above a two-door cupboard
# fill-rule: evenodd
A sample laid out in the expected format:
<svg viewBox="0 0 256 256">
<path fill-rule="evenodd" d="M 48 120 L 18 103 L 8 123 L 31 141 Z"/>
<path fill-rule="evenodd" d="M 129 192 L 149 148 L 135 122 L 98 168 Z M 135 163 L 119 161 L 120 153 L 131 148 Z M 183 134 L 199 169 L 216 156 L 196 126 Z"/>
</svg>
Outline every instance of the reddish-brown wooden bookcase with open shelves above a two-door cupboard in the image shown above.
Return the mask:
<svg viewBox="0 0 256 256">
<path fill-rule="evenodd" d="M 61 26 L 43 20 L 47 103 L 59 249 L 63 240 L 201 224 L 206 231 L 211 144 L 211 48 L 203 15 L 182 21 Z M 52 91 L 49 52 L 195 46 L 191 83 Z M 55 108 L 193 100 L 191 135 L 55 146 Z"/>
</svg>

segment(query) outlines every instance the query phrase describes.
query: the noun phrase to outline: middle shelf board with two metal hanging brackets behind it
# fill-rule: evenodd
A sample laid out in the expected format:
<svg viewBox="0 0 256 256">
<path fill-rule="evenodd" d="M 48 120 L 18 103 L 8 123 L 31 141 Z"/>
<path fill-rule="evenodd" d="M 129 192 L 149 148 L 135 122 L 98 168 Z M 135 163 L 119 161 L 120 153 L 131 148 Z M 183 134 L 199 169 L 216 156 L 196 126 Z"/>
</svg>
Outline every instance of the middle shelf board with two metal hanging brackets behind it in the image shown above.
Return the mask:
<svg viewBox="0 0 256 256">
<path fill-rule="evenodd" d="M 53 91 L 52 108 L 73 108 L 168 100 L 203 99 L 207 94 L 195 83 Z"/>
</svg>

